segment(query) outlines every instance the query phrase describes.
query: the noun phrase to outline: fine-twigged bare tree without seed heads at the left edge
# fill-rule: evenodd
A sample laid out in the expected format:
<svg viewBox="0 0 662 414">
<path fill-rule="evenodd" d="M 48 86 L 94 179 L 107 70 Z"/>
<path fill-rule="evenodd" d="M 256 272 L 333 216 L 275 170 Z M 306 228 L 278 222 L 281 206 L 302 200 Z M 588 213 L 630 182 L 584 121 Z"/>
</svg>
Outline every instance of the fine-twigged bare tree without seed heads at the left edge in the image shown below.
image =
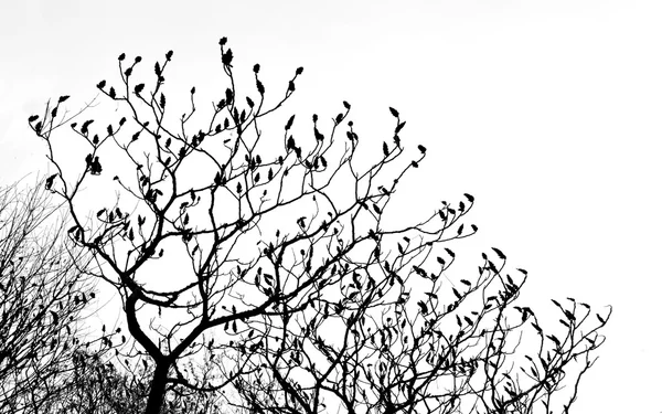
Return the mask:
<svg viewBox="0 0 662 414">
<path fill-rule="evenodd" d="M 2 413 L 39 413 L 60 397 L 94 296 L 89 256 L 66 243 L 43 184 L 0 189 Z"/>
</svg>

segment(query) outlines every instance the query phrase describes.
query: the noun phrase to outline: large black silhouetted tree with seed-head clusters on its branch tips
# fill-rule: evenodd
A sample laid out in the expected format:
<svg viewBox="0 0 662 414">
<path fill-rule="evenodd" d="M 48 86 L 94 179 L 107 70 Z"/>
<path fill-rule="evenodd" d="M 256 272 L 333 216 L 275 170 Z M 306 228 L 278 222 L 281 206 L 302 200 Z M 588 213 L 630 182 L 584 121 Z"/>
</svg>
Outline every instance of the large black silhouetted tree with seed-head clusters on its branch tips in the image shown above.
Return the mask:
<svg viewBox="0 0 662 414">
<path fill-rule="evenodd" d="M 119 55 L 120 85 L 97 88 L 125 116 L 71 124 L 81 162 L 64 161 L 53 134 L 68 121 L 57 117 L 67 96 L 29 119 L 55 168 L 46 188 L 75 223 L 68 235 L 99 262 L 137 357 L 151 361 L 145 412 L 159 413 L 178 388 L 229 386 L 226 403 L 250 413 L 567 412 L 609 316 L 554 301 L 560 331 L 543 330 L 514 305 L 526 272 L 508 274 L 498 248 L 471 280 L 451 279 L 455 253 L 441 245 L 476 233 L 463 222 L 474 199 L 393 223 L 391 200 L 428 156 L 406 150 L 399 113 L 389 108 L 393 137 L 371 153 L 359 151 L 346 102 L 330 123 L 312 115 L 311 139 L 296 139 L 287 117 L 276 142 L 260 126 L 284 110 L 303 68 L 268 104 L 259 64 L 255 89 L 241 95 L 225 38 L 220 47 L 228 87 L 206 120 L 195 87 L 171 117 L 172 51 L 151 86 L 136 79 L 140 56 Z M 203 381 L 184 369 L 201 358 Z"/>
</svg>

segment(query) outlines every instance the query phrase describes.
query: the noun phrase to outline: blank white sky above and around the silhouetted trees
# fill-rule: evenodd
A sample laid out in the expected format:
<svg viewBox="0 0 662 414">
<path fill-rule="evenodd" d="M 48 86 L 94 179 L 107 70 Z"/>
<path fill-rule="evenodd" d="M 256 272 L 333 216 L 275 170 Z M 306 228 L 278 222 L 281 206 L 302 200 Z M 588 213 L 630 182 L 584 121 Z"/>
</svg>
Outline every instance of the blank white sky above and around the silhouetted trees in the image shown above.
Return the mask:
<svg viewBox="0 0 662 414">
<path fill-rule="evenodd" d="M 554 310 L 551 297 L 615 307 L 575 413 L 662 411 L 662 2 L 0 4 L 1 183 L 45 172 L 26 118 L 47 98 L 72 95 L 74 109 L 98 81 L 117 83 L 120 52 L 149 70 L 170 49 L 169 87 L 202 91 L 220 78 L 226 35 L 235 72 L 259 62 L 267 91 L 306 67 L 284 119 L 328 119 L 346 99 L 378 151 L 397 108 L 403 142 L 429 152 L 403 188 L 403 213 L 473 194 L 480 231 L 463 258 L 500 247 L 530 272 L 522 299 L 538 312 Z"/>
</svg>

